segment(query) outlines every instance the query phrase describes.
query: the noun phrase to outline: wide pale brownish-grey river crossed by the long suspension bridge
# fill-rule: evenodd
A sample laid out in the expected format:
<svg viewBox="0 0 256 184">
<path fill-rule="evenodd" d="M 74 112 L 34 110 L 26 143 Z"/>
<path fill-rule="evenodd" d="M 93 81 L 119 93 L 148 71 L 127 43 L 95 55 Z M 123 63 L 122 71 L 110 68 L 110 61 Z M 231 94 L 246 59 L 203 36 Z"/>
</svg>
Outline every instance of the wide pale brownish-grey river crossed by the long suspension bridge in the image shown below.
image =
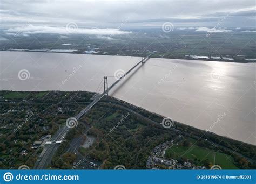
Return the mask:
<svg viewBox="0 0 256 184">
<path fill-rule="evenodd" d="M 103 76 L 114 76 L 120 69 L 127 71 L 141 60 L 43 52 L 0 52 L 0 59 L 0 88 L 26 91 L 96 91 Z M 110 95 L 255 145 L 255 65 L 151 58 L 127 75 Z M 29 78 L 23 76 L 26 80 L 18 77 L 23 69 L 29 72 Z M 114 80 L 109 77 L 109 85 Z"/>
</svg>

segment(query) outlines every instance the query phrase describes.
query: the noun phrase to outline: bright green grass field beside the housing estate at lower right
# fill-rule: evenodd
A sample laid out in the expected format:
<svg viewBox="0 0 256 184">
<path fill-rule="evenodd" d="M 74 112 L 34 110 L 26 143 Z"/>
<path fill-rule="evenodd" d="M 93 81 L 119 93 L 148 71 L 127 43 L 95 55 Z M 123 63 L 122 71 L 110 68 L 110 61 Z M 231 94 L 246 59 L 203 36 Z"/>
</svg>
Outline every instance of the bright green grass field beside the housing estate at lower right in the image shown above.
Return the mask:
<svg viewBox="0 0 256 184">
<path fill-rule="evenodd" d="M 214 165 L 214 150 L 208 150 L 207 148 L 192 145 L 190 147 L 184 147 L 181 145 L 173 145 L 166 150 L 166 157 L 172 157 L 175 159 L 186 158 L 198 162 L 197 165 L 203 165 L 204 160 L 209 160 L 210 165 Z M 216 152 L 215 165 L 221 166 L 223 169 L 239 169 L 233 164 L 233 157 L 227 154 Z"/>
</svg>

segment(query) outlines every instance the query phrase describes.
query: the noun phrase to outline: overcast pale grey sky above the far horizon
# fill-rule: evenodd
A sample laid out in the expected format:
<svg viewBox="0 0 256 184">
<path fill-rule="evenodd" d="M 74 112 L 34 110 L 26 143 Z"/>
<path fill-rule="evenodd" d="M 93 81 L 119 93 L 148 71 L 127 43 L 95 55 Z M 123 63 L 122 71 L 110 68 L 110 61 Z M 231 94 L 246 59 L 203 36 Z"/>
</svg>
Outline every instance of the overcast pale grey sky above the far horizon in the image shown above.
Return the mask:
<svg viewBox="0 0 256 184">
<path fill-rule="evenodd" d="M 2 0 L 0 29 L 7 34 L 69 34 L 72 29 L 85 34 L 127 34 L 123 29 L 170 22 L 175 29 L 216 27 L 228 32 L 229 27 L 255 28 L 255 12 L 254 0 Z"/>
</svg>

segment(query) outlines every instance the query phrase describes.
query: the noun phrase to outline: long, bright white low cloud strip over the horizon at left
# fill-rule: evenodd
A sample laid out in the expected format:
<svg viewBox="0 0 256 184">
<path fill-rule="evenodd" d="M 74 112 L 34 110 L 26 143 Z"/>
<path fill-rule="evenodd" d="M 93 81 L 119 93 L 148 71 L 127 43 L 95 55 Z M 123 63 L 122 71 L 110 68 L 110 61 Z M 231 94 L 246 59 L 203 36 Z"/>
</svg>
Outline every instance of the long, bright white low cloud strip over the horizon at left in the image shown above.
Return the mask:
<svg viewBox="0 0 256 184">
<path fill-rule="evenodd" d="M 50 33 L 50 34 L 89 34 L 89 35 L 121 35 L 121 34 L 129 34 L 132 33 L 130 31 L 121 31 L 118 29 L 87 29 L 87 28 L 79 28 L 73 27 L 50 27 L 50 26 L 34 26 L 34 25 L 27 25 L 21 27 L 10 28 L 5 30 L 6 34 L 38 34 L 38 33 Z"/>
</svg>

